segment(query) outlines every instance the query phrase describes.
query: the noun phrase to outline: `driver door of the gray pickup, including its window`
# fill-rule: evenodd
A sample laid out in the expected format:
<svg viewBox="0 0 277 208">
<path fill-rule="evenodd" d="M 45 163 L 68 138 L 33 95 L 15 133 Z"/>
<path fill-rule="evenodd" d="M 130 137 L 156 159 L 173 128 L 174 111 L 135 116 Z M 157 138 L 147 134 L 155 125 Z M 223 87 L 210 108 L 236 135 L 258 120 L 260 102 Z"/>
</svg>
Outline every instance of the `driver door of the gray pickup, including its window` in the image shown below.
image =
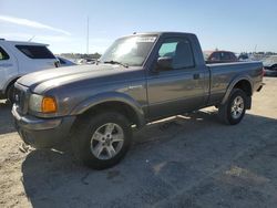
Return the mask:
<svg viewBox="0 0 277 208">
<path fill-rule="evenodd" d="M 204 104 L 205 72 L 197 67 L 191 42 L 186 38 L 168 38 L 160 46 L 158 58 L 172 59 L 167 70 L 155 65 L 147 76 L 151 118 L 176 115 Z"/>
</svg>

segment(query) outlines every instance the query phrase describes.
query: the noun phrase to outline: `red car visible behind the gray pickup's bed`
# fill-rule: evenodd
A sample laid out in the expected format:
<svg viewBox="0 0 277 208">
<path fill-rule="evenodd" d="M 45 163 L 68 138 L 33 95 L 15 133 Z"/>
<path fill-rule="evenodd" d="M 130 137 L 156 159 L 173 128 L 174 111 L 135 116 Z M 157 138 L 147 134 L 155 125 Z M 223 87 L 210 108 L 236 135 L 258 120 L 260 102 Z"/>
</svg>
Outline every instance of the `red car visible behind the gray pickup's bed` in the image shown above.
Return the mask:
<svg viewBox="0 0 277 208">
<path fill-rule="evenodd" d="M 230 63 L 238 62 L 235 53 L 230 51 L 204 51 L 206 63 Z"/>
</svg>

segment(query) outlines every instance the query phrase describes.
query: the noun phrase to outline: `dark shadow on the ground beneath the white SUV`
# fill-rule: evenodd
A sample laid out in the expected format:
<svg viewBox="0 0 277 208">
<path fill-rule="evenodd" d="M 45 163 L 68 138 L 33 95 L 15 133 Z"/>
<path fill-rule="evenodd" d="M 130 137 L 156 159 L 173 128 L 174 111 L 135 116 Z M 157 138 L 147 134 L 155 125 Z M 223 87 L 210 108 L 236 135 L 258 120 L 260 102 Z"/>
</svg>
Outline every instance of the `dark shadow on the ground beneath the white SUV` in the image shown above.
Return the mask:
<svg viewBox="0 0 277 208">
<path fill-rule="evenodd" d="M 7 101 L 0 102 L 0 135 L 16 132 L 12 124 L 11 104 Z"/>
</svg>

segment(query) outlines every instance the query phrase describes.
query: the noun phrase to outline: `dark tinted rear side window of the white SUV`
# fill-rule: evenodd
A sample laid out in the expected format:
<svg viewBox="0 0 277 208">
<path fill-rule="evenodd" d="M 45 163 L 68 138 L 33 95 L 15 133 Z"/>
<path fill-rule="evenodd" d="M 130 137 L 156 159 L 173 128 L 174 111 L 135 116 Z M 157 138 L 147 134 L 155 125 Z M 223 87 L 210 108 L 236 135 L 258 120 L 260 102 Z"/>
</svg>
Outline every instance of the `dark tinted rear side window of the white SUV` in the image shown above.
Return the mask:
<svg viewBox="0 0 277 208">
<path fill-rule="evenodd" d="M 16 45 L 19 51 L 31 59 L 55 59 L 53 53 L 43 45 Z"/>
</svg>

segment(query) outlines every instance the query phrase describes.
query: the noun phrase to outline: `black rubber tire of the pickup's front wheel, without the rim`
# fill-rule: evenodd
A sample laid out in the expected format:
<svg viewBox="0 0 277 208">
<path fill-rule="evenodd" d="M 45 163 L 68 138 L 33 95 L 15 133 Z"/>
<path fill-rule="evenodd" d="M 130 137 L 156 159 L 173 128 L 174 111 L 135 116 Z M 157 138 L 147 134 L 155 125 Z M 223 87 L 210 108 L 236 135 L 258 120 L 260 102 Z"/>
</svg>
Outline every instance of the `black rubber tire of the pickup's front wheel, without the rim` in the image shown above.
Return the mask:
<svg viewBox="0 0 277 208">
<path fill-rule="evenodd" d="M 100 159 L 91 149 L 91 141 L 96 131 L 105 124 L 116 124 L 121 127 L 124 135 L 124 142 L 119 153 L 109 159 Z M 111 133 L 112 134 L 112 133 Z M 74 155 L 84 165 L 93 169 L 105 169 L 110 168 L 125 156 L 132 141 L 132 128 L 131 123 L 125 118 L 124 115 L 116 112 L 99 113 L 96 115 L 84 115 L 74 125 L 74 129 L 71 135 L 72 148 Z M 111 143 L 114 144 L 114 143 Z M 100 144 L 99 144 L 100 145 Z M 102 144 L 103 145 L 103 144 Z M 115 144 L 116 145 L 116 144 Z M 117 144 L 119 145 L 119 144 Z M 102 147 L 103 148 L 103 147 Z M 104 147 L 105 148 L 105 147 Z M 102 152 L 103 153 L 103 152 Z M 107 154 L 107 149 L 106 149 Z"/>
</svg>

